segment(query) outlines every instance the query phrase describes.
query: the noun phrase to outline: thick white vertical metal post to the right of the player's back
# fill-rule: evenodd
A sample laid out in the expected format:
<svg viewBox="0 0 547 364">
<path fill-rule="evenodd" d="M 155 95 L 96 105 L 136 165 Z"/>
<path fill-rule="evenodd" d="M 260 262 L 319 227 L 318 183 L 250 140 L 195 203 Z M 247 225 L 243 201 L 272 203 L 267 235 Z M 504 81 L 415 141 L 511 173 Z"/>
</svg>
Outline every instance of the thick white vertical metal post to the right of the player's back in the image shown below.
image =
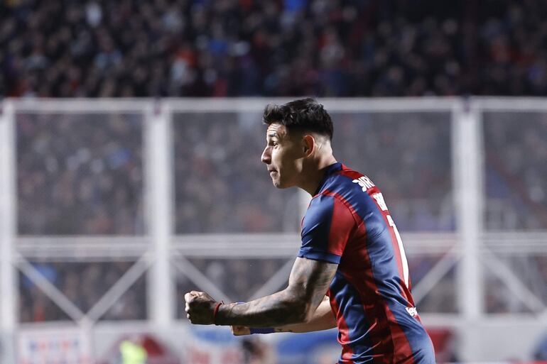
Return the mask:
<svg viewBox="0 0 547 364">
<path fill-rule="evenodd" d="M 460 236 L 461 260 L 457 270 L 457 297 L 462 317 L 461 330 L 474 329 L 484 311 L 480 236 L 484 199 L 482 170 L 482 129 L 479 111 L 462 101 L 454 109 L 452 128 L 453 182 L 457 231 Z M 460 331 L 461 353 L 474 352 L 477 345 Z M 460 358 L 472 360 L 472 358 Z"/>
</svg>

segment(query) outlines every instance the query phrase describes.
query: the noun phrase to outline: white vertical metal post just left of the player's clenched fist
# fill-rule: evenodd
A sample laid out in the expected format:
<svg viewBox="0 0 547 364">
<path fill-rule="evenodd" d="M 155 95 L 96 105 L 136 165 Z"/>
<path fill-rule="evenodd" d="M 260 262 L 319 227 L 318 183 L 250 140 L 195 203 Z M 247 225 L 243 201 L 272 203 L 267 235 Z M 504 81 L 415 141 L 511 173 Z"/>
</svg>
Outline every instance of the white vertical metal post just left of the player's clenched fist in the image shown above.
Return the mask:
<svg viewBox="0 0 547 364">
<path fill-rule="evenodd" d="M 173 231 L 173 163 L 170 109 L 150 104 L 144 128 L 146 221 L 153 241 L 153 265 L 148 272 L 149 318 L 159 327 L 174 319 L 174 287 L 169 247 Z"/>
</svg>

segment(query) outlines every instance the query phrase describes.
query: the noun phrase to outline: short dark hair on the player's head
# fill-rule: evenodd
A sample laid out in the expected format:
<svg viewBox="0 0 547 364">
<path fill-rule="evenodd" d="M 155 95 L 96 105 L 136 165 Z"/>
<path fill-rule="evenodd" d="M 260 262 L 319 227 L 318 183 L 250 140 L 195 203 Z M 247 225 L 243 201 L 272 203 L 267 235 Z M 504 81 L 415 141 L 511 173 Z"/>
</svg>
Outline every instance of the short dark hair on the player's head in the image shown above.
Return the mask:
<svg viewBox="0 0 547 364">
<path fill-rule="evenodd" d="M 315 99 L 299 99 L 283 105 L 268 104 L 264 108 L 262 121 L 266 125 L 280 123 L 291 129 L 314 131 L 332 140 L 332 120 L 322 104 Z"/>
</svg>

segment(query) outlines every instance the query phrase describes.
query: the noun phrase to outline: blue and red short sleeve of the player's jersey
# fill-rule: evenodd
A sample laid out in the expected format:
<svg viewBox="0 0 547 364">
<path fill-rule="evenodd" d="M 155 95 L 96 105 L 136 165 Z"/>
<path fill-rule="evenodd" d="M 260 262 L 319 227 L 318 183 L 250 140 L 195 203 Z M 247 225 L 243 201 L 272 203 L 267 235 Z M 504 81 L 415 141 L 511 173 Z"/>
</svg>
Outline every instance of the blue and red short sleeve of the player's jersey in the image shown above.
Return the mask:
<svg viewBox="0 0 547 364">
<path fill-rule="evenodd" d="M 314 197 L 302 222 L 298 257 L 339 264 L 354 226 L 350 209 L 339 199 Z"/>
</svg>

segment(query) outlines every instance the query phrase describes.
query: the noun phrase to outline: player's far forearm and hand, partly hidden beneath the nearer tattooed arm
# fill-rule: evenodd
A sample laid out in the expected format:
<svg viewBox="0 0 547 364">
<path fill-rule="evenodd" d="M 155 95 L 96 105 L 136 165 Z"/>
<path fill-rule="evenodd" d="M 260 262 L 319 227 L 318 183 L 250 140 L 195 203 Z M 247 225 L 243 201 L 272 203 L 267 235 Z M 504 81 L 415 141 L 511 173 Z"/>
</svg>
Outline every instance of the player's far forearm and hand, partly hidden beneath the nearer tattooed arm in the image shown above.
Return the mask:
<svg viewBox="0 0 547 364">
<path fill-rule="evenodd" d="M 330 308 L 330 299 L 325 296 L 319 307 L 313 313 L 311 319 L 299 324 L 285 325 L 273 328 L 274 332 L 294 332 L 304 333 L 311 331 L 321 331 L 333 329 L 336 327 L 336 319 Z M 235 336 L 249 335 L 251 329 L 248 326 L 232 326 L 232 333 Z"/>
</svg>

